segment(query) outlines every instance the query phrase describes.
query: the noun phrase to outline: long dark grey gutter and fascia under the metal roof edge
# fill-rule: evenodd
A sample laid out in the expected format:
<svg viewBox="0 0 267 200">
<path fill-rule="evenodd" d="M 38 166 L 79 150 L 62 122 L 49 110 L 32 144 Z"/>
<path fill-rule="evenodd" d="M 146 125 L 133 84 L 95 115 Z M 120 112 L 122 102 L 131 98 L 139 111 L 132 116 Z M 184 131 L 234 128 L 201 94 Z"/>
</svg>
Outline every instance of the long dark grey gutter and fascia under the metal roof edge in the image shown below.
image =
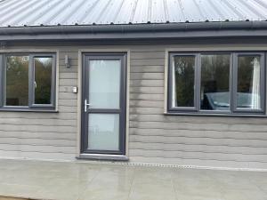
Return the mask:
<svg viewBox="0 0 267 200">
<path fill-rule="evenodd" d="M 266 21 L 0 28 L 0 40 L 266 36 Z"/>
</svg>

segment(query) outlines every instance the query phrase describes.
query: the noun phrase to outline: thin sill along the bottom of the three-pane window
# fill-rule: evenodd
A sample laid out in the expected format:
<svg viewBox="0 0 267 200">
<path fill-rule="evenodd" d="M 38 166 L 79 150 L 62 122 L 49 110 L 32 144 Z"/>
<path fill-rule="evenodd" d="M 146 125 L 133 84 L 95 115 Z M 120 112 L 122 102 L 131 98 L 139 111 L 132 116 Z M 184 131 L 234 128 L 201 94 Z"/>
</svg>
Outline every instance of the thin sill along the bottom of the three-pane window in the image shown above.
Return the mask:
<svg viewBox="0 0 267 200">
<path fill-rule="evenodd" d="M 165 116 L 225 116 L 225 117 L 267 117 L 264 114 L 228 114 L 228 113 L 172 113 L 165 112 Z"/>
</svg>

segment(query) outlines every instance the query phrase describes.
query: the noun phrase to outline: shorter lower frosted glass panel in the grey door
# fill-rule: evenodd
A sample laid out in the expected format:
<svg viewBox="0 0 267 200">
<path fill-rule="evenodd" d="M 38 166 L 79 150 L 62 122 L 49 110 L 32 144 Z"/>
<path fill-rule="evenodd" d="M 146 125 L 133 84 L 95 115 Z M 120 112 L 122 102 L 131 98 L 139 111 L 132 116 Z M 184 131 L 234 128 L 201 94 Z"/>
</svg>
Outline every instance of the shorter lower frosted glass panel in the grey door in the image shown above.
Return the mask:
<svg viewBox="0 0 267 200">
<path fill-rule="evenodd" d="M 119 150 L 119 115 L 89 114 L 88 149 Z"/>
</svg>

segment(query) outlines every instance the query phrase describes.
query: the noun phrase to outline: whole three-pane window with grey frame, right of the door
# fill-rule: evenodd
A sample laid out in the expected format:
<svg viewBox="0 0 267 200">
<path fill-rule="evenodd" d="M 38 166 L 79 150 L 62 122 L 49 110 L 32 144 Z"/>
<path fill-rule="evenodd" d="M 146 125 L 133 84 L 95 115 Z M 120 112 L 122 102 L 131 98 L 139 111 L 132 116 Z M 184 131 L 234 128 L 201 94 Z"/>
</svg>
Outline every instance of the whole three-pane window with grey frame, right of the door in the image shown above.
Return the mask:
<svg viewBox="0 0 267 200">
<path fill-rule="evenodd" d="M 263 52 L 169 54 L 169 113 L 263 115 Z"/>
</svg>

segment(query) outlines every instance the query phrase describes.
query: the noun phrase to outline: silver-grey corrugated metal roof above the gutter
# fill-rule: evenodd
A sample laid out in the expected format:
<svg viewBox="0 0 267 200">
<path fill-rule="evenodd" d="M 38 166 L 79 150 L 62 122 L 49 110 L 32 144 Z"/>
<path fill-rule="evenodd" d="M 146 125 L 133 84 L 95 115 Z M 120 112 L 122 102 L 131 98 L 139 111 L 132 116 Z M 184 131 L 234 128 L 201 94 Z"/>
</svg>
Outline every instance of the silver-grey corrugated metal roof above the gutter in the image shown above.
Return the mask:
<svg viewBox="0 0 267 200">
<path fill-rule="evenodd" d="M 0 0 L 0 27 L 267 20 L 267 0 Z"/>
</svg>

